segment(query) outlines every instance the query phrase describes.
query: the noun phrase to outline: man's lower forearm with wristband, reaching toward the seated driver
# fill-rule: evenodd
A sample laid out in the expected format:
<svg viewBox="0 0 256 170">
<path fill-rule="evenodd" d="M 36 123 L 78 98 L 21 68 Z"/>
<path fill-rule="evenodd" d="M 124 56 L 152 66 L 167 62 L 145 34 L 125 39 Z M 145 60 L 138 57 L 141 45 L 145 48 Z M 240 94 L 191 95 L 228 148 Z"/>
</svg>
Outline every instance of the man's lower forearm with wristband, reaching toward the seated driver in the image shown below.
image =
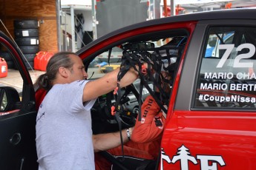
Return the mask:
<svg viewBox="0 0 256 170">
<path fill-rule="evenodd" d="M 126 129 L 122 130 L 123 143 L 128 142 Z M 105 151 L 121 145 L 120 132 L 93 135 L 94 152 Z"/>
</svg>

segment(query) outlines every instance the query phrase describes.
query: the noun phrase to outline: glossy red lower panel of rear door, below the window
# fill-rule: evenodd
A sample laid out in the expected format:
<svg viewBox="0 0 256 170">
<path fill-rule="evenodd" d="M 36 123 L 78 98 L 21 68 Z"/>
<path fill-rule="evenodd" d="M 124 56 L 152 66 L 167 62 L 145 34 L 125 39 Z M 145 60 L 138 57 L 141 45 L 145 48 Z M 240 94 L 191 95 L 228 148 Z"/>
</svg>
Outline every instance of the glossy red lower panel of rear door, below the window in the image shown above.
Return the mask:
<svg viewBox="0 0 256 170">
<path fill-rule="evenodd" d="M 217 169 L 255 169 L 255 118 L 252 112 L 175 111 L 165 127 L 164 152 L 173 159 L 186 146 L 197 162 L 189 163 L 189 169 L 207 169 L 211 163 Z M 225 165 L 209 157 L 203 165 L 197 155 L 220 157 Z M 181 169 L 179 161 L 163 162 L 166 169 Z"/>
</svg>

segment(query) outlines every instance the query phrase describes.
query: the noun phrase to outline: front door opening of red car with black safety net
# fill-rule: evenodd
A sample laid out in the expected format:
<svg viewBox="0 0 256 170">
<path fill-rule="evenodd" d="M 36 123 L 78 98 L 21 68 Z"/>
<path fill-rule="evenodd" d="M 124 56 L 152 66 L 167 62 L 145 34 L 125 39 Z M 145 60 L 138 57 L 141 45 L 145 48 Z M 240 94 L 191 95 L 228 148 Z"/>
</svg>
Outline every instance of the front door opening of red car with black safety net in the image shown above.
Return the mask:
<svg viewBox="0 0 256 170">
<path fill-rule="evenodd" d="M 88 77 L 91 79 L 99 78 L 111 72 L 119 67 L 121 62 L 125 62 L 123 68 L 128 68 L 133 64 L 140 66 L 140 63 L 146 62 L 151 68 L 154 68 L 154 72 L 148 73 L 148 70 L 144 70 L 147 73 L 143 74 L 142 67 L 140 67 L 139 78 L 134 81 L 133 87 L 127 86 L 122 89 L 125 89 L 125 92 L 122 92 L 127 96 L 125 100 L 118 101 L 119 99 L 113 95 L 114 92 L 99 96 L 91 109 L 93 134 L 118 130 L 116 119 L 110 114 L 111 108 L 115 106 L 116 102 L 122 102 L 122 107 L 125 107 L 123 110 L 127 111 L 120 114 L 123 120 L 122 128 L 131 126 L 130 120 L 134 120 L 141 113 L 140 106 L 142 103 L 140 103 L 140 99 L 143 102 L 150 94 L 154 94 L 152 97 L 157 101 L 157 104 L 167 112 L 168 106 L 163 106 L 163 103 L 168 103 L 171 97 L 171 86 L 175 81 L 176 71 L 186 47 L 187 38 L 188 32 L 184 29 L 137 35 L 128 40 L 116 42 L 115 47 L 106 47 L 102 49 L 105 52 L 96 55 L 88 67 Z M 163 73 L 166 71 L 169 73 L 168 76 Z M 171 79 L 169 79 L 170 77 Z M 165 85 L 161 86 L 163 81 Z M 157 90 L 161 94 L 157 93 Z M 122 94 L 120 93 L 120 95 Z M 100 121 L 99 118 L 101 118 Z M 100 126 L 97 126 L 99 122 Z"/>
</svg>

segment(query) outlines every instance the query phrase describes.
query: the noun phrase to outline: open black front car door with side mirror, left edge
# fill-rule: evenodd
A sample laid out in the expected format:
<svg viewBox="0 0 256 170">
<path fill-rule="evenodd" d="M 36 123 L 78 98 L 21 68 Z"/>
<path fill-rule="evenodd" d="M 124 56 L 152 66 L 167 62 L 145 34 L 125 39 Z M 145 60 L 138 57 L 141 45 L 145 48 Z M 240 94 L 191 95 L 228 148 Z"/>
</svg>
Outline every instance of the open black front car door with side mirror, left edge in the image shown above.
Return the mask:
<svg viewBox="0 0 256 170">
<path fill-rule="evenodd" d="M 23 81 L 19 89 L 15 88 L 17 82 L 5 84 L 0 78 L 0 169 L 38 169 L 33 83 L 22 53 L 1 31 L 0 49 L 13 59 Z"/>
</svg>

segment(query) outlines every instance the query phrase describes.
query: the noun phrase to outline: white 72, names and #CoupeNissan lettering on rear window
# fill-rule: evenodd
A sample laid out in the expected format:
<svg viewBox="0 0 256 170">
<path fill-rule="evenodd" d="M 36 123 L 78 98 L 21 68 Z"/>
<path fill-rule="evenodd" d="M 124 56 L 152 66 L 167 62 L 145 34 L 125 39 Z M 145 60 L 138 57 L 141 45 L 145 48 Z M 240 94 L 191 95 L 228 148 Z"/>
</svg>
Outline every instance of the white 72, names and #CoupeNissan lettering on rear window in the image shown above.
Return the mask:
<svg viewBox="0 0 256 170">
<path fill-rule="evenodd" d="M 234 47 L 234 44 L 220 44 L 217 50 L 225 52 L 219 58 L 215 70 L 226 72 L 204 72 L 204 82 L 200 82 L 198 86 L 203 92 L 200 92 L 198 99 L 217 103 L 256 103 L 256 73 L 251 59 L 255 55 L 255 49 L 249 43 L 240 44 L 238 47 Z M 242 50 L 247 52 L 240 54 Z M 240 71 L 241 68 L 243 71 Z M 235 72 L 236 70 L 240 72 Z"/>
</svg>

